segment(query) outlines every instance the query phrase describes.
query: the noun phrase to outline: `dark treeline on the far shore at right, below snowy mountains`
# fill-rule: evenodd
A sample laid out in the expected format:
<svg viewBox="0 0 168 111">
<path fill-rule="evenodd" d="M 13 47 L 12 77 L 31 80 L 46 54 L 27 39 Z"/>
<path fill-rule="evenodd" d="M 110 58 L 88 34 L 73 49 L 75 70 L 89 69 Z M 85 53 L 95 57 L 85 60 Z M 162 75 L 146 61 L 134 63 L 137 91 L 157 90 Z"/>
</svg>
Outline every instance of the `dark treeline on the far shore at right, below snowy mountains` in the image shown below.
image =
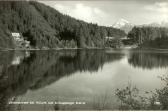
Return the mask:
<svg viewBox="0 0 168 111">
<path fill-rule="evenodd" d="M 168 48 L 168 28 L 134 27 L 128 38 L 139 47 Z"/>
</svg>

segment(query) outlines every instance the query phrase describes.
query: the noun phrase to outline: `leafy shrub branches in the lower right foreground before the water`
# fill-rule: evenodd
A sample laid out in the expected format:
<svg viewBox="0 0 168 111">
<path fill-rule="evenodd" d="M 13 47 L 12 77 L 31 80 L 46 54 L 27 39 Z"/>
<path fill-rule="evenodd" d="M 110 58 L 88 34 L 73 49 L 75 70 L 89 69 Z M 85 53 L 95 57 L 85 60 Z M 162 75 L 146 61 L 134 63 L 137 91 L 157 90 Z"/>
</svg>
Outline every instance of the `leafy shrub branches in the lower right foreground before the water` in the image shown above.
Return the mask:
<svg viewBox="0 0 168 111">
<path fill-rule="evenodd" d="M 168 77 L 162 77 L 165 87 L 155 92 L 140 92 L 137 87 L 129 84 L 124 89 L 117 89 L 116 96 L 121 102 L 119 109 L 124 110 L 167 110 L 168 109 Z"/>
</svg>

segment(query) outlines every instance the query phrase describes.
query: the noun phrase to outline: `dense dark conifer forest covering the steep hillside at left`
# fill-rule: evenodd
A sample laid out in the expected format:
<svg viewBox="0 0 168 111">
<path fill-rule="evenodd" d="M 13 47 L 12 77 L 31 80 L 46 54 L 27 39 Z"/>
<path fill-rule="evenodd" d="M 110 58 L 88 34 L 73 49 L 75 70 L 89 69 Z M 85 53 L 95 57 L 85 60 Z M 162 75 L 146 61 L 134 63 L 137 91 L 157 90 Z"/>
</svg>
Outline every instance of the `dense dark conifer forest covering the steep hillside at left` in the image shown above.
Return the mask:
<svg viewBox="0 0 168 111">
<path fill-rule="evenodd" d="M 34 48 L 104 47 L 105 37 L 123 37 L 112 27 L 86 23 L 35 1 L 0 1 L 0 47 L 13 48 L 12 32 Z"/>
</svg>

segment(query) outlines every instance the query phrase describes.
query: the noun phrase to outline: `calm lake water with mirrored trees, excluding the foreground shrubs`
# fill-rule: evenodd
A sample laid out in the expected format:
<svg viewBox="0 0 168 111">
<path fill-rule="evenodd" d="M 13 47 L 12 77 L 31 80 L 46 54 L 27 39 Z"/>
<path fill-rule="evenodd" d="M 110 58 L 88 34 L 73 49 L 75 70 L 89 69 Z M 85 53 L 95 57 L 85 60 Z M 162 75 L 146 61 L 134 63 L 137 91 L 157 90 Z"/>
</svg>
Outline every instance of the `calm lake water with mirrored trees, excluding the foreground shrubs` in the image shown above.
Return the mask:
<svg viewBox="0 0 168 111">
<path fill-rule="evenodd" d="M 166 51 L 1 51 L 0 110 L 122 109 L 117 89 L 150 97 L 166 75 Z"/>
</svg>

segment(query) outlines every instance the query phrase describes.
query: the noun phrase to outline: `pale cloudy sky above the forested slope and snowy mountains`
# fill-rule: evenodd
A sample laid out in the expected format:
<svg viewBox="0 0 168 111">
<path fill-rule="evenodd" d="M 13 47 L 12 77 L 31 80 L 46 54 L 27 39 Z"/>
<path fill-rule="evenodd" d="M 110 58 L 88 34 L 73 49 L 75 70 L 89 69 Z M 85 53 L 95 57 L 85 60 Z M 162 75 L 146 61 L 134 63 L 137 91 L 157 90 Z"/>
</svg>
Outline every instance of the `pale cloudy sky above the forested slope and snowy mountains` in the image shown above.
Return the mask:
<svg viewBox="0 0 168 111">
<path fill-rule="evenodd" d="M 72 17 L 111 26 L 119 19 L 132 24 L 168 21 L 168 0 L 41 1 Z"/>
</svg>

